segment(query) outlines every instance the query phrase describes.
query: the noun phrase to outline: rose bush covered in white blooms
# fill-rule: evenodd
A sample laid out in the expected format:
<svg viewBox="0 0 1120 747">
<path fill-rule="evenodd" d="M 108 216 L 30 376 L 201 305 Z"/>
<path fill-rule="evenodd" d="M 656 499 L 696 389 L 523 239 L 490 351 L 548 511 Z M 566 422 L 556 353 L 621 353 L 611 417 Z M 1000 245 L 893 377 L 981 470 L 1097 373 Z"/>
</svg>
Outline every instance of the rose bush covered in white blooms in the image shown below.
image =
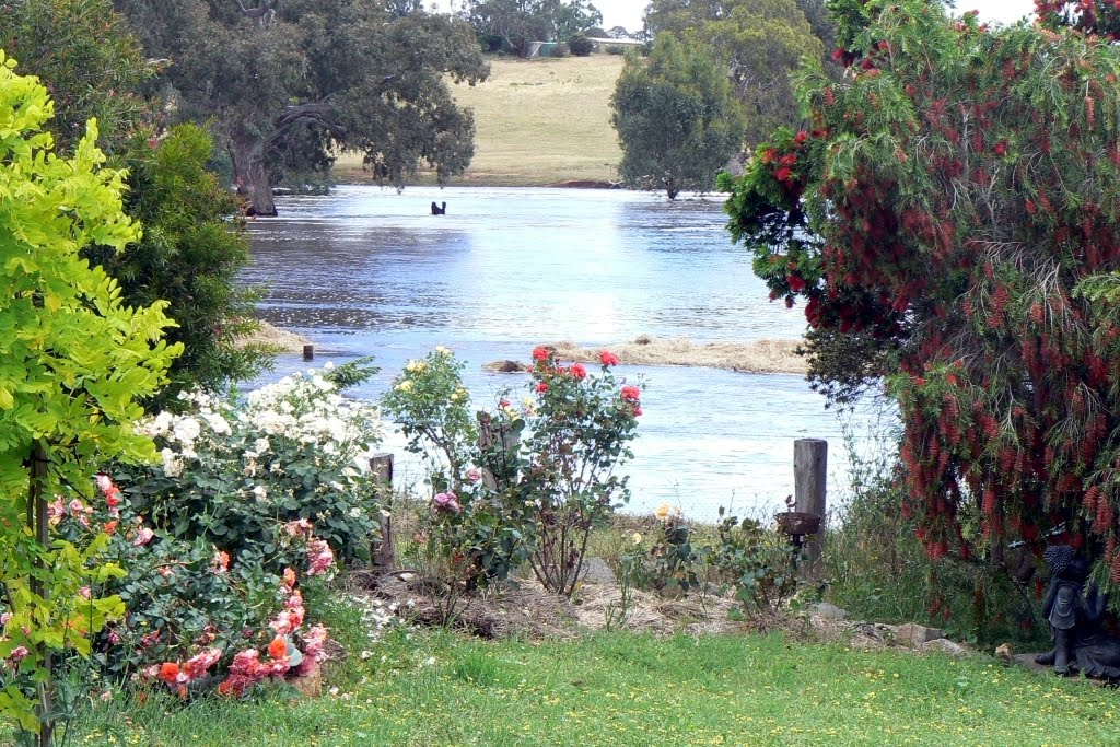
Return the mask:
<svg viewBox="0 0 1120 747">
<path fill-rule="evenodd" d="M 297 373 L 248 395 L 184 394 L 194 410 L 160 413 L 141 430 L 162 465 L 115 475 L 137 511 L 168 534 L 203 538 L 236 555 L 293 562 L 277 536 L 315 525 L 349 559 L 366 547 L 379 504 L 363 463 L 381 439 L 376 410 L 347 401 L 319 373 Z"/>
</svg>

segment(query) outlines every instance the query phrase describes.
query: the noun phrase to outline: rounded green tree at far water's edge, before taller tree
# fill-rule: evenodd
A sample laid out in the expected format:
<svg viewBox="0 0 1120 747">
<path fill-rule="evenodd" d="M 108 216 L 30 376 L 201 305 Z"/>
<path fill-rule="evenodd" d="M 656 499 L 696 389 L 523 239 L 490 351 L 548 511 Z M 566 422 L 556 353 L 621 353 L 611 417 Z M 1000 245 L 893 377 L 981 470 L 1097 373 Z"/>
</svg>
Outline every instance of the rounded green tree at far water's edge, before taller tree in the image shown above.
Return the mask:
<svg viewBox="0 0 1120 747">
<path fill-rule="evenodd" d="M 698 43 L 662 34 L 646 63 L 626 59 L 610 100 L 623 179 L 633 186 L 711 188 L 743 138 L 743 119 L 727 77 Z"/>
</svg>

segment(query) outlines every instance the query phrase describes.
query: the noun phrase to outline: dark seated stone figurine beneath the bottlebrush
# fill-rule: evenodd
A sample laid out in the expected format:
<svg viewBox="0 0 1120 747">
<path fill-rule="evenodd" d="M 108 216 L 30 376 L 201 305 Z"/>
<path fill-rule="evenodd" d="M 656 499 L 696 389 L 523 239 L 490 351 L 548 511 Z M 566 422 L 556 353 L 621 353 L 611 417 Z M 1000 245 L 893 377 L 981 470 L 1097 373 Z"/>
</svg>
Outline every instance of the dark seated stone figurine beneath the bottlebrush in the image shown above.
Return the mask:
<svg viewBox="0 0 1120 747">
<path fill-rule="evenodd" d="M 1120 641 L 1101 631 L 1105 598 L 1093 583 L 1085 595 L 1089 562 L 1068 545 L 1046 548 L 1051 585 L 1043 599 L 1054 650 L 1038 654 L 1039 664 L 1053 664 L 1058 674 L 1080 671 L 1085 676 L 1120 679 Z"/>
</svg>

